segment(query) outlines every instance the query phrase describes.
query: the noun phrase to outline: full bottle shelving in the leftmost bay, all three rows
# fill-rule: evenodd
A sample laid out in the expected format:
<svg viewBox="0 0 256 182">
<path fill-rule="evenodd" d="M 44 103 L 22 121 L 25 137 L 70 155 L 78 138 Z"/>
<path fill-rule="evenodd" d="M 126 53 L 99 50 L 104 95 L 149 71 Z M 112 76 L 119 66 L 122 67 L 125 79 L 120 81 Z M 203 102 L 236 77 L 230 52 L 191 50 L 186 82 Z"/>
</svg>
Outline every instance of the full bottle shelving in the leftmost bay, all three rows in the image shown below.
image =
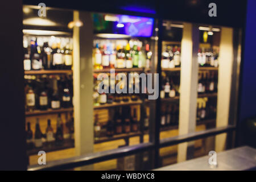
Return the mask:
<svg viewBox="0 0 256 182">
<path fill-rule="evenodd" d="M 27 154 L 74 147 L 72 38 L 23 36 Z"/>
</svg>

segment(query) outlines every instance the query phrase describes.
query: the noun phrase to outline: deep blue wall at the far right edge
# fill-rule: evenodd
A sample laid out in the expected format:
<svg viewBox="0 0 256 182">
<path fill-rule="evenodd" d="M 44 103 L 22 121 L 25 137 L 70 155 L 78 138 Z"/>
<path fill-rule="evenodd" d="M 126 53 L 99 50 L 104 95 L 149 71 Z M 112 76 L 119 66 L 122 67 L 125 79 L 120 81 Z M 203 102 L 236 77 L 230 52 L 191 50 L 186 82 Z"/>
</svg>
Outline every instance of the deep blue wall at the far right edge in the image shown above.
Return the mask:
<svg viewBox="0 0 256 182">
<path fill-rule="evenodd" d="M 238 144 L 247 144 L 256 139 L 245 138 L 245 119 L 256 117 L 256 1 L 247 1 L 245 38 L 242 56 L 241 80 L 240 80 L 240 104 L 238 105 Z"/>
</svg>

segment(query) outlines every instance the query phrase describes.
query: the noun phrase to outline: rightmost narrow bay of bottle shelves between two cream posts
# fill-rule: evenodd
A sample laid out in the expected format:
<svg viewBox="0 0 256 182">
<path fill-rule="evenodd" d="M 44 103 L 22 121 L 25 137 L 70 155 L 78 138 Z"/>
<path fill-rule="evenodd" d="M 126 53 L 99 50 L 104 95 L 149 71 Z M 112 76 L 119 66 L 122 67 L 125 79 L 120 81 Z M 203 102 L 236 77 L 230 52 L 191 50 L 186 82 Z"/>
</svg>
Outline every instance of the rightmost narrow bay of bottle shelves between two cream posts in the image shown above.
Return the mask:
<svg viewBox="0 0 256 182">
<path fill-rule="evenodd" d="M 218 46 L 201 43 L 197 53 L 199 81 L 197 85 L 197 124 L 208 123 L 208 128 L 216 122 L 218 85 Z"/>
</svg>

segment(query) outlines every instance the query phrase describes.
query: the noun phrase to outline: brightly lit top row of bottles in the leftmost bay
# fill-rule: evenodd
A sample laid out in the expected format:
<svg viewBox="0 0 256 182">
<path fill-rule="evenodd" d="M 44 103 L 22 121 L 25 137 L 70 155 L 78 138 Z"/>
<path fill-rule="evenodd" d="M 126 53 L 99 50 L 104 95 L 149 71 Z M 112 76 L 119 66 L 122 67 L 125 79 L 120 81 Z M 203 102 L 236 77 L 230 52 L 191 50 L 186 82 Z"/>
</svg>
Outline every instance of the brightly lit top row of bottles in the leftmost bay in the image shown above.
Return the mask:
<svg viewBox="0 0 256 182">
<path fill-rule="evenodd" d="M 72 38 L 55 36 L 24 36 L 24 71 L 40 69 L 71 69 Z"/>
</svg>

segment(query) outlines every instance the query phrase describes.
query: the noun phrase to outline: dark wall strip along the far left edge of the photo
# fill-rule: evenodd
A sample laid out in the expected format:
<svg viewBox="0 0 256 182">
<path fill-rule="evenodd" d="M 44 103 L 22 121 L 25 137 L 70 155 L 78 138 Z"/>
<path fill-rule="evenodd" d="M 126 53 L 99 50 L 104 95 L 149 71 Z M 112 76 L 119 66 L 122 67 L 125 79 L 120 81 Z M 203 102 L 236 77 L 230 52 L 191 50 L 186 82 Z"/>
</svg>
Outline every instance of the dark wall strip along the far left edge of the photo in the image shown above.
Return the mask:
<svg viewBox="0 0 256 182">
<path fill-rule="evenodd" d="M 2 1 L 1 7 L 0 170 L 24 170 L 27 158 L 22 0 Z"/>
</svg>

